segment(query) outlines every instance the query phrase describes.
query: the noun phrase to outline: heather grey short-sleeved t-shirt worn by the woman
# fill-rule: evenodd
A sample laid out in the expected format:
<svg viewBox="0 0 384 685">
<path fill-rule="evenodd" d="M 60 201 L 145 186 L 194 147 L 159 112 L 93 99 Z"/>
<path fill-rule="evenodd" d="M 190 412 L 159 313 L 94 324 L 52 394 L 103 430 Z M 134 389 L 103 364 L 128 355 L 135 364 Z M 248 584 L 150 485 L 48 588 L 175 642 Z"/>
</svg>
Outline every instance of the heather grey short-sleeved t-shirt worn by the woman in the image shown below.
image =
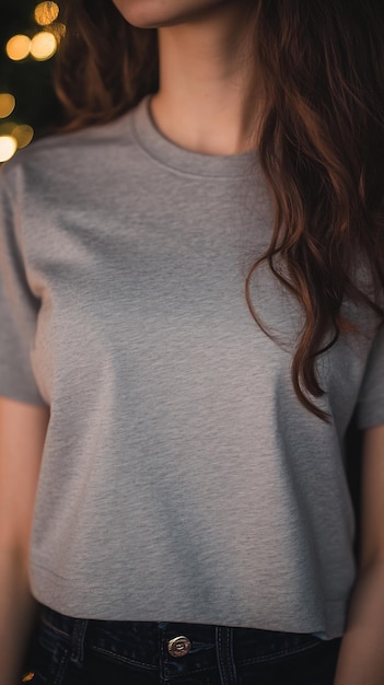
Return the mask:
<svg viewBox="0 0 384 685">
<path fill-rule="evenodd" d="M 33 592 L 79 617 L 338 636 L 356 572 L 344 437 L 357 407 L 384 422 L 383 333 L 346 304 L 363 332 L 317 364 L 333 421 L 303 408 L 298 304 L 256 271 L 277 344 L 244 298 L 272 230 L 257 155 L 178 148 L 148 103 L 3 169 L 0 394 L 51 410 Z"/>
</svg>

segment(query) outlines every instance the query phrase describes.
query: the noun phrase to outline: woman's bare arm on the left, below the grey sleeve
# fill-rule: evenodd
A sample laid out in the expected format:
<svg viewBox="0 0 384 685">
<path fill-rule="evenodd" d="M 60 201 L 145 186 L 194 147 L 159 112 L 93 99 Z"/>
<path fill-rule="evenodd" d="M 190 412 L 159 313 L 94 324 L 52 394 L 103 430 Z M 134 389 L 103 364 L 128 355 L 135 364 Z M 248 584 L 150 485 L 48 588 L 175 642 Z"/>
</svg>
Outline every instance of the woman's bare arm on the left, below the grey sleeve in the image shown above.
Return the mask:
<svg viewBox="0 0 384 685">
<path fill-rule="evenodd" d="M 49 410 L 0 397 L 0 685 L 14 685 L 31 629 L 31 524 Z"/>
</svg>

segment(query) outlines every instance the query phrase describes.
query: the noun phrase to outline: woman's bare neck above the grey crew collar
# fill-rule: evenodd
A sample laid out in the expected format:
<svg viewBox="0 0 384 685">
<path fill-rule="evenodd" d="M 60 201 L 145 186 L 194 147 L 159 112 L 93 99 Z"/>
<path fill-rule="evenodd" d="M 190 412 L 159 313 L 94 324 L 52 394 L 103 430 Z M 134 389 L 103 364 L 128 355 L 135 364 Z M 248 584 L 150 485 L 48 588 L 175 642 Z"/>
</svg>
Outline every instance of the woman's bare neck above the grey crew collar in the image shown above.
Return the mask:
<svg viewBox="0 0 384 685">
<path fill-rule="evenodd" d="M 209 18 L 159 28 L 160 90 L 151 112 L 181 147 L 237 154 L 256 147 L 252 32 L 242 2 Z"/>
</svg>

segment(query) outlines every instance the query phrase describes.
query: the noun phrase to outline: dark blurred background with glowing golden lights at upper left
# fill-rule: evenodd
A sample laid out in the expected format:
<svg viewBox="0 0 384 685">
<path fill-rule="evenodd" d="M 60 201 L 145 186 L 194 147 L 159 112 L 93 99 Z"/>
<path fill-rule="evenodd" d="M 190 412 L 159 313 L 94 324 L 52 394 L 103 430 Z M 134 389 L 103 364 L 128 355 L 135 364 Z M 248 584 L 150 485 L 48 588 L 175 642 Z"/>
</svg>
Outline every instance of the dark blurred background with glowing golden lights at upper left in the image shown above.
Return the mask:
<svg viewBox="0 0 384 685">
<path fill-rule="evenodd" d="M 60 120 L 53 71 L 65 32 L 60 0 L 0 0 L 0 163 Z"/>
</svg>

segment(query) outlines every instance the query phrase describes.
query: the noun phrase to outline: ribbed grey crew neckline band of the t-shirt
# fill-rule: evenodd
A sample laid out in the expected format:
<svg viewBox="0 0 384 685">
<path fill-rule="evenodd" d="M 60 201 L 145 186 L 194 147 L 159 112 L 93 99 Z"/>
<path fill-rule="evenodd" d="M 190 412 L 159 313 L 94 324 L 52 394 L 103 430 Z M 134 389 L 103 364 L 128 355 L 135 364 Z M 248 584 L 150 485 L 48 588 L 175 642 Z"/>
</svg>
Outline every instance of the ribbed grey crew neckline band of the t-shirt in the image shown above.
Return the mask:
<svg viewBox="0 0 384 685">
<path fill-rule="evenodd" d="M 151 109 L 151 94 L 146 95 L 133 112 L 133 135 L 139 146 L 159 163 L 195 176 L 243 176 L 252 171 L 257 151 L 213 155 L 193 152 L 166 138 L 156 127 Z"/>
</svg>

